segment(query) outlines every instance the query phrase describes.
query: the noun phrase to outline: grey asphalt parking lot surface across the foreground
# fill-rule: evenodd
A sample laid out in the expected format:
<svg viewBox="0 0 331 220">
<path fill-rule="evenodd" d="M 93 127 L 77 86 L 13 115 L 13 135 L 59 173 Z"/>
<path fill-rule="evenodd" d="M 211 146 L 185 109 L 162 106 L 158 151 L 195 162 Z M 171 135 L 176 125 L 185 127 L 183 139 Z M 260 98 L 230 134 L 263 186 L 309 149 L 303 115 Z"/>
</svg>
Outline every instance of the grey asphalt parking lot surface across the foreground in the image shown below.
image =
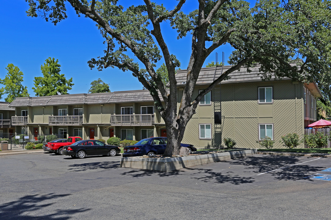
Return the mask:
<svg viewBox="0 0 331 220">
<path fill-rule="evenodd" d="M 330 157 L 258 154 L 170 173 L 119 158 L 0 155 L 1 219 L 331 219 Z"/>
</svg>

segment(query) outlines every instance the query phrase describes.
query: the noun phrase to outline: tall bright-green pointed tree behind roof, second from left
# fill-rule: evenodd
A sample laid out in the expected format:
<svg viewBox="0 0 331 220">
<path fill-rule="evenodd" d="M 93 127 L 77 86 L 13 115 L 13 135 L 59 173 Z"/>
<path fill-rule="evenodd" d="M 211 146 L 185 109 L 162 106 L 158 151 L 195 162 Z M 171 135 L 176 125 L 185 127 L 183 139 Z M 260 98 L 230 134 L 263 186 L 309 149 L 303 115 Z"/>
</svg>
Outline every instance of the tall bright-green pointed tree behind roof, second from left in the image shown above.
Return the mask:
<svg viewBox="0 0 331 220">
<path fill-rule="evenodd" d="M 64 74 L 60 74 L 59 60 L 49 57 L 45 61 L 46 63 L 40 67 L 43 77 L 35 77 L 33 80 L 35 87 L 32 89 L 36 96 L 56 95 L 57 92 L 68 94 L 68 90 L 74 85 L 71 83 L 72 77 L 67 80 Z"/>
</svg>

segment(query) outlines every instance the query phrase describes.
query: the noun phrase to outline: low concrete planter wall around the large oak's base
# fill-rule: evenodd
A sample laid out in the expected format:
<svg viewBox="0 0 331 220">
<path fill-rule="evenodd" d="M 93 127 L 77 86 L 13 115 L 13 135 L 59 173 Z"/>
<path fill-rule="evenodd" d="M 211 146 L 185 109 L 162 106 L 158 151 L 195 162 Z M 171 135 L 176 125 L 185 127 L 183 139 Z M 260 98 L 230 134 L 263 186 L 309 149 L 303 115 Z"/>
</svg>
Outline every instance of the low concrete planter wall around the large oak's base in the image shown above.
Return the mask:
<svg viewBox="0 0 331 220">
<path fill-rule="evenodd" d="M 137 168 L 144 170 L 155 170 L 170 172 L 182 168 L 193 167 L 232 158 L 249 156 L 256 154 L 257 149 L 236 150 L 222 153 L 212 153 L 204 155 L 194 155 L 184 157 L 168 158 L 143 158 L 143 157 L 124 157 L 120 158 L 120 166 L 127 168 Z"/>
</svg>

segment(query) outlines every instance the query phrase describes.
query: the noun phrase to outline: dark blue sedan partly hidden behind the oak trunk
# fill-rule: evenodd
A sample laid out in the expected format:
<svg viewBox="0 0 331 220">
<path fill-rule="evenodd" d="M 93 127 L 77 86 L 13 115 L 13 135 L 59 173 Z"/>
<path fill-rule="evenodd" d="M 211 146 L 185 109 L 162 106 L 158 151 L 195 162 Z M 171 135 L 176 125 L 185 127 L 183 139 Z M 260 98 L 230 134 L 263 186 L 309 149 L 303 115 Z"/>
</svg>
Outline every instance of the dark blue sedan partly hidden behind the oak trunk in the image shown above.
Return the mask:
<svg viewBox="0 0 331 220">
<path fill-rule="evenodd" d="M 146 138 L 133 146 L 124 147 L 122 157 L 163 154 L 166 150 L 166 138 Z M 181 147 L 188 147 L 190 151 L 197 151 L 192 144 L 181 143 Z"/>
</svg>

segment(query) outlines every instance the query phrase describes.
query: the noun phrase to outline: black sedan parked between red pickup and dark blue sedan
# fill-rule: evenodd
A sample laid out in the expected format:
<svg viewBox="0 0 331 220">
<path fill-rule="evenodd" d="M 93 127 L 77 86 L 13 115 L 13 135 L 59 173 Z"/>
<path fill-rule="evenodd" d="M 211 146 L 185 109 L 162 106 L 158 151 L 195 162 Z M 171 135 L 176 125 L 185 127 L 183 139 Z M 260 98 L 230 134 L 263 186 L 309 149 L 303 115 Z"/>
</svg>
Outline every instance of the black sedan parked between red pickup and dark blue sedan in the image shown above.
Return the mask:
<svg viewBox="0 0 331 220">
<path fill-rule="evenodd" d="M 113 157 L 120 152 L 121 150 L 118 146 L 107 145 L 101 141 L 96 140 L 83 140 L 77 141 L 68 146 L 64 146 L 62 154 L 82 159 L 86 156 L 92 155 L 108 155 Z"/>
</svg>

